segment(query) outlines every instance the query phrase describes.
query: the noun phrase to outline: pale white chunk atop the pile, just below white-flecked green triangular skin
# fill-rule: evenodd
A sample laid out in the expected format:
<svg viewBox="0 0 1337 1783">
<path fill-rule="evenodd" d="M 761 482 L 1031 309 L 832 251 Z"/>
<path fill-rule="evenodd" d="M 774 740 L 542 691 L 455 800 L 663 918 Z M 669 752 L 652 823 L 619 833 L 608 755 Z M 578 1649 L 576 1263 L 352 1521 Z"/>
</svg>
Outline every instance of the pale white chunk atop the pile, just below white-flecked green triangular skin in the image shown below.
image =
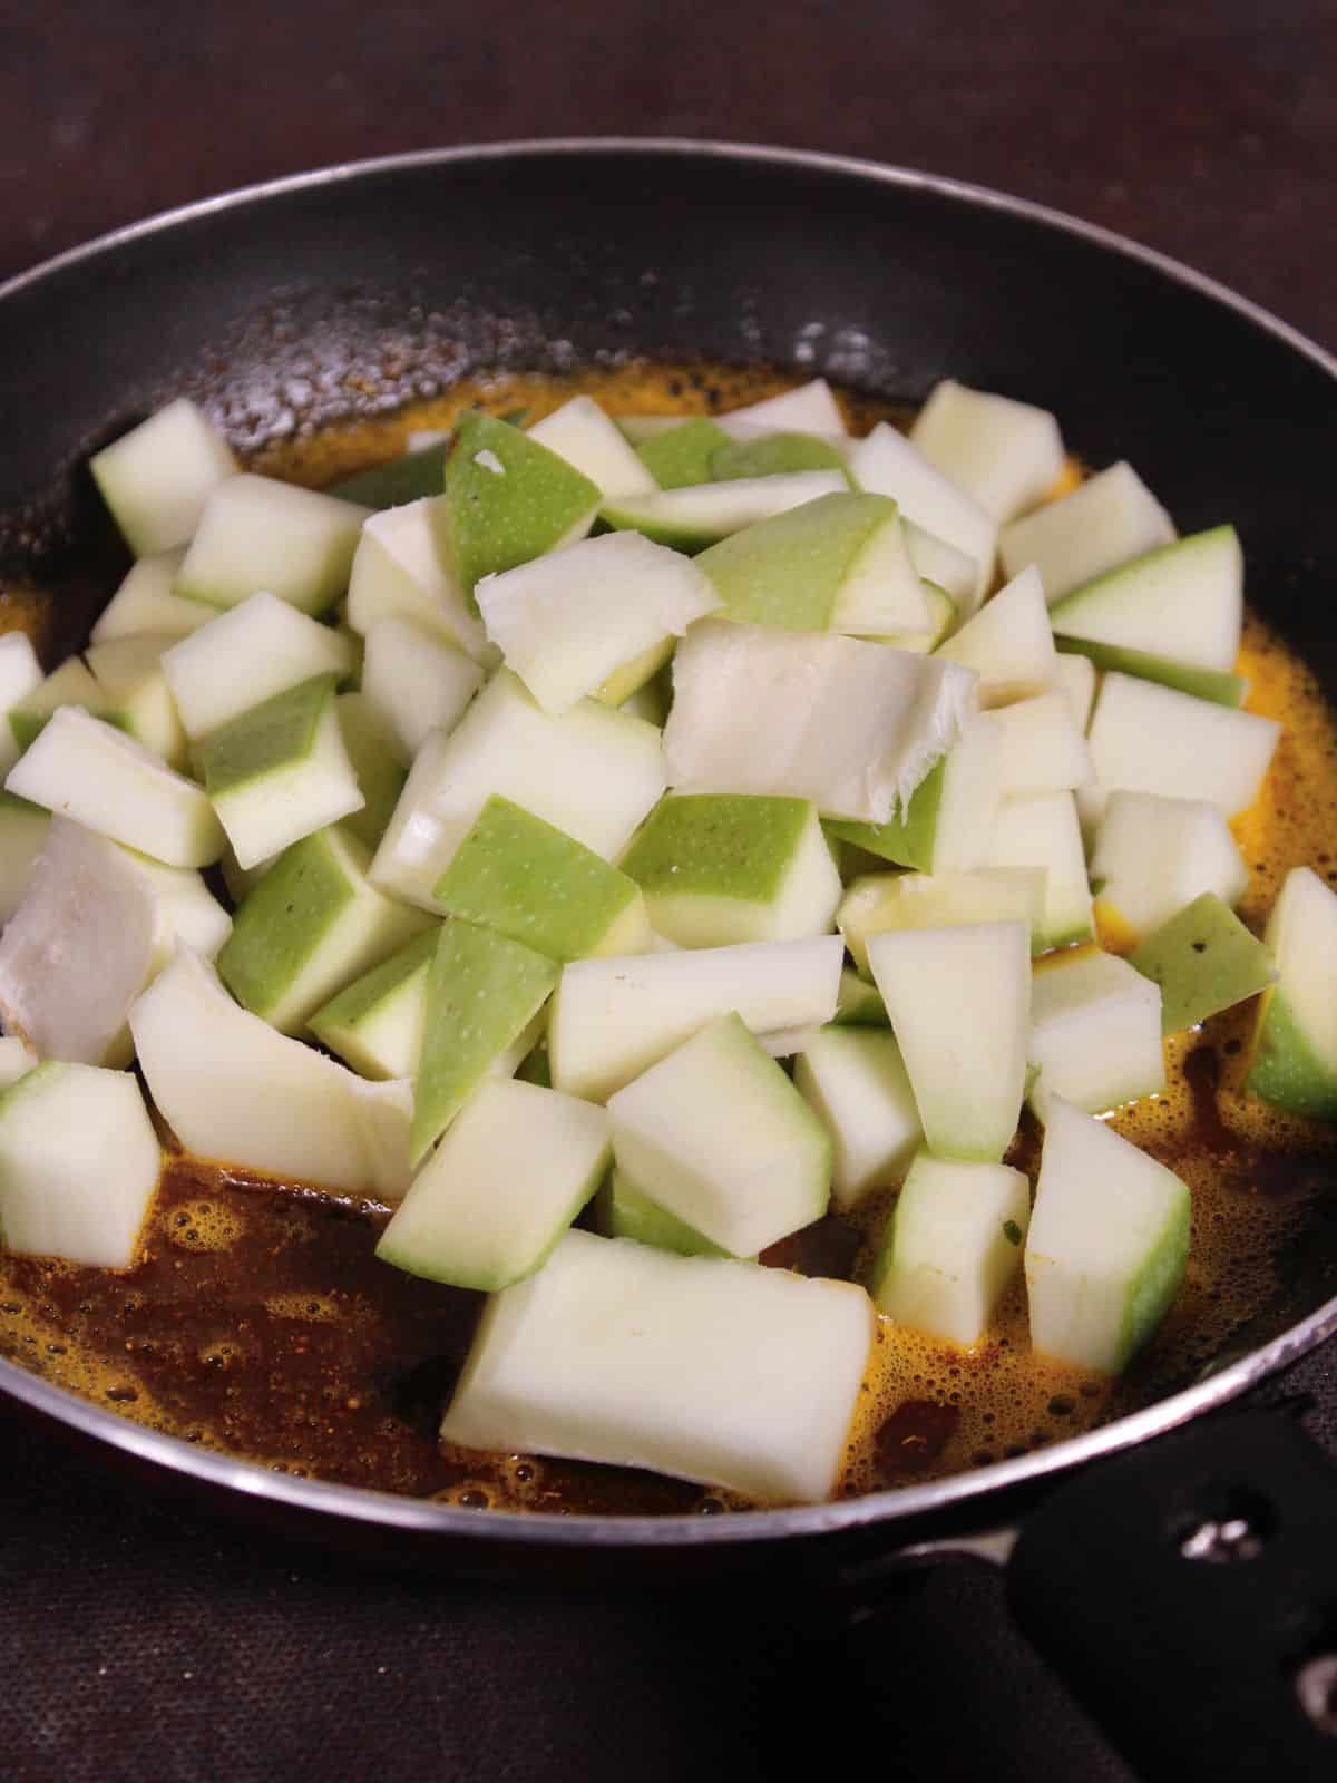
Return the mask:
<svg viewBox="0 0 1337 1783">
<path fill-rule="evenodd" d="M 695 563 L 640 533 L 549 551 L 483 576 L 474 594 L 488 638 L 553 715 L 720 604 Z"/>
</svg>

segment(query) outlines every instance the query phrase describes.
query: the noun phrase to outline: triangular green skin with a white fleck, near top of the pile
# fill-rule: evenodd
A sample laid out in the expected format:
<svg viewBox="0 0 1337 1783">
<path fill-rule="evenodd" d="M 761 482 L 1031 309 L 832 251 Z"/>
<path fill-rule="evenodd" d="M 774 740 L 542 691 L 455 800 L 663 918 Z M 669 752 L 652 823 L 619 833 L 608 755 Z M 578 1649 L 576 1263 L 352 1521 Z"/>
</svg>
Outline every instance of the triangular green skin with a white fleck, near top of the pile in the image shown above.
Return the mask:
<svg viewBox="0 0 1337 1783">
<path fill-rule="evenodd" d="M 492 453 L 503 474 L 478 462 Z M 465 594 L 481 576 L 515 569 L 586 522 L 603 496 L 588 476 L 496 415 L 469 412 L 455 423 L 446 458 L 442 521 Z"/>
</svg>

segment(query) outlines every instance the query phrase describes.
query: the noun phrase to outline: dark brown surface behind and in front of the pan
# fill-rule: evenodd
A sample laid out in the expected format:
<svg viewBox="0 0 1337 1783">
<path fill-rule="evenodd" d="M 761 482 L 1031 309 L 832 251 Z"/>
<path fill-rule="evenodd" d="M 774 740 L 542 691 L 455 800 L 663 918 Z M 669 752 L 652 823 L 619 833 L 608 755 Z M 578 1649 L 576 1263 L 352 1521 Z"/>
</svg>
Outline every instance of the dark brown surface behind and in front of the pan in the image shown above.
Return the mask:
<svg viewBox="0 0 1337 1783">
<path fill-rule="evenodd" d="M 55 0 L 0 12 L 0 276 L 308 166 L 681 134 L 1009 189 L 1185 259 L 1333 349 L 1333 68 L 1337 9 L 1317 0 L 1266 14 L 1241 0 Z M 1321 1355 L 1284 1391 L 1317 1398 L 1314 1428 L 1337 1448 L 1333 1375 Z M 1128 1776 L 1009 1631 L 982 1569 L 927 1574 L 845 1642 L 808 1619 L 781 1565 L 765 1590 L 652 1599 L 355 1567 L 107 1478 L 45 1432 L 0 1430 L 0 1771 L 14 1783 L 747 1783 L 784 1774 L 806 1730 L 827 1769 Z"/>
</svg>

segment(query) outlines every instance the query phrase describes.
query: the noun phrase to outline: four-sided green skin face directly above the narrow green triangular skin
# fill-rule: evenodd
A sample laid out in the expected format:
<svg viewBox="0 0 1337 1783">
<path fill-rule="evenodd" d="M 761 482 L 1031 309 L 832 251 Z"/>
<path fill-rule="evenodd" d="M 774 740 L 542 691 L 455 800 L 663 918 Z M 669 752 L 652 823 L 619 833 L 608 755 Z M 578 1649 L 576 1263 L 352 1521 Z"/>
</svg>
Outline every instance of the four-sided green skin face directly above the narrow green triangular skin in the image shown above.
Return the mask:
<svg viewBox="0 0 1337 1783">
<path fill-rule="evenodd" d="M 431 897 L 449 916 L 569 961 L 599 949 L 636 886 L 572 836 L 494 793 Z"/>
</svg>

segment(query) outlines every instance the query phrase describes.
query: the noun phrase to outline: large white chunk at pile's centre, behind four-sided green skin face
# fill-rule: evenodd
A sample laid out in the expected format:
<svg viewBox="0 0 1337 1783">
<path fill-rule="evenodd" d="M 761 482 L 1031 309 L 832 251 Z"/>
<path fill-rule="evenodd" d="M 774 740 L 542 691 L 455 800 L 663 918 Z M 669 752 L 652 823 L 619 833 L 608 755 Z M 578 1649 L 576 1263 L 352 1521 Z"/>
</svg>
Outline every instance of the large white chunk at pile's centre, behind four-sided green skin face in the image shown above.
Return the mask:
<svg viewBox="0 0 1337 1783">
<path fill-rule="evenodd" d="M 435 909 L 437 881 L 494 793 L 615 859 L 663 785 L 652 724 L 595 699 L 554 719 L 503 669 L 449 735 L 428 736 L 371 877 L 396 897 Z"/>
</svg>

